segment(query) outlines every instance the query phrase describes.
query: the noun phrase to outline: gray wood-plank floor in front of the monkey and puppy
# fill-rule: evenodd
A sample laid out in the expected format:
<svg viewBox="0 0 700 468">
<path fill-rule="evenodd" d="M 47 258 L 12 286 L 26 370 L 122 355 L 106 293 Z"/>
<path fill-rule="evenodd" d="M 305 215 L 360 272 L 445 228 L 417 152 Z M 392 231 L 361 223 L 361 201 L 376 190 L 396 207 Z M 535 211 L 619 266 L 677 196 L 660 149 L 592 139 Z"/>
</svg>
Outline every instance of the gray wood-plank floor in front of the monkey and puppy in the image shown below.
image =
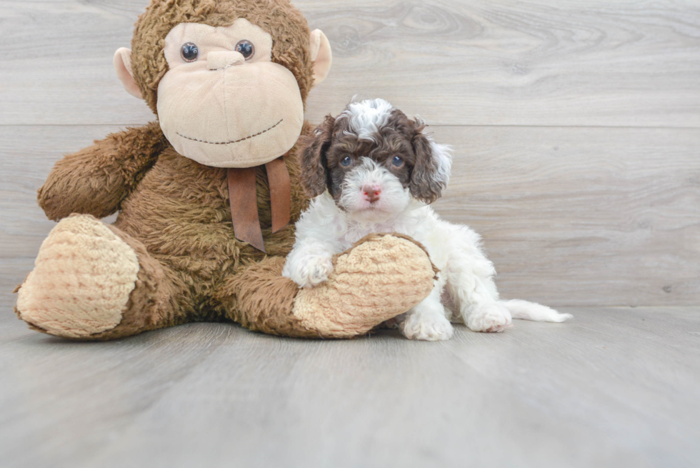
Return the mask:
<svg viewBox="0 0 700 468">
<path fill-rule="evenodd" d="M 0 322 L 3 467 L 697 467 L 700 309 L 346 342 Z"/>
</svg>

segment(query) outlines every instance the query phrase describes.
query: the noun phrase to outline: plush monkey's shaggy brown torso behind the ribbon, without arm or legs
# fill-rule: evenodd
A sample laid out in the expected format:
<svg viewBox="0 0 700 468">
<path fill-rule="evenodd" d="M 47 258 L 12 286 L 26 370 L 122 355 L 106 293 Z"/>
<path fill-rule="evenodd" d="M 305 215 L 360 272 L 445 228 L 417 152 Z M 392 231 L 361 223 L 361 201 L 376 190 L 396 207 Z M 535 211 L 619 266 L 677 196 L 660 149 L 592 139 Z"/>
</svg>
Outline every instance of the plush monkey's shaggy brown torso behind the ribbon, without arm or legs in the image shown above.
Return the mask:
<svg viewBox="0 0 700 468">
<path fill-rule="evenodd" d="M 292 222 L 308 200 L 299 189 L 296 156 L 285 159 L 292 181 Z M 294 224 L 271 232 L 270 192 L 264 167 L 257 170 L 258 210 L 267 256 L 286 256 Z M 121 204 L 114 226 L 139 239 L 179 289 L 181 313 L 191 319 L 233 318 L 213 299 L 226 280 L 266 254 L 234 236 L 226 169 L 202 166 L 167 147 L 139 187 Z M 144 232 L 147 233 L 144 236 Z"/>
</svg>

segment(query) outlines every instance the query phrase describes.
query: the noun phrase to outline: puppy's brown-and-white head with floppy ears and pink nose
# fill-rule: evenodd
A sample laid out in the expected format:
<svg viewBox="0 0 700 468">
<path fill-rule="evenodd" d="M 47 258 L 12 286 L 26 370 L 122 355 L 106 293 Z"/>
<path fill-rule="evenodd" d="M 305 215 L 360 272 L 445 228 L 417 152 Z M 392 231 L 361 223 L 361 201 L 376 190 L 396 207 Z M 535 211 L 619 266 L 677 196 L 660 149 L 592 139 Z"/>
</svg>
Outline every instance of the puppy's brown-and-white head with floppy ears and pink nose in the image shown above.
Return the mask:
<svg viewBox="0 0 700 468">
<path fill-rule="evenodd" d="M 406 209 L 411 196 L 432 203 L 447 186 L 449 146 L 424 134 L 383 99 L 354 102 L 327 116 L 301 142 L 301 184 L 314 197 L 328 190 L 340 209 L 372 221 Z"/>
</svg>

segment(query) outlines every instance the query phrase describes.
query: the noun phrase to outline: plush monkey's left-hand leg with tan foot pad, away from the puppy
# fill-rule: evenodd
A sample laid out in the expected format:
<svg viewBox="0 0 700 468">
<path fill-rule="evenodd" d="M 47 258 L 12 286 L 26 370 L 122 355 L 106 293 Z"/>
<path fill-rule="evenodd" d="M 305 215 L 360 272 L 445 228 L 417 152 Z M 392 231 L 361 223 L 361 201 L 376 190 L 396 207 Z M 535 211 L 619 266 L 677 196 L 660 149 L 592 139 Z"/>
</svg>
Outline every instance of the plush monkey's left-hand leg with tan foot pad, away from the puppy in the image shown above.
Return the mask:
<svg viewBox="0 0 700 468">
<path fill-rule="evenodd" d="M 54 227 L 18 292 L 19 318 L 57 337 L 114 339 L 186 321 L 169 271 L 141 242 L 86 214 Z"/>
</svg>

